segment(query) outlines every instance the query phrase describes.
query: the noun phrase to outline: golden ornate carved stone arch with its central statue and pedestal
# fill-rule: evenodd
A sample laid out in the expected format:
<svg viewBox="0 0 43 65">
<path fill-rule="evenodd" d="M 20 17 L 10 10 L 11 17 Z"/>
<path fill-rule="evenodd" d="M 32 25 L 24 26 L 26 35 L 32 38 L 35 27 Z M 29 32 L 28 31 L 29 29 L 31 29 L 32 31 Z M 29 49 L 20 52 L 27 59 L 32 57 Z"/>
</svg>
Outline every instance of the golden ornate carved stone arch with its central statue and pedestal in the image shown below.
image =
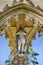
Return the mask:
<svg viewBox="0 0 43 65">
<path fill-rule="evenodd" d="M 26 16 L 26 14 L 28 16 Z M 43 22 L 43 19 L 41 17 L 43 18 L 43 15 L 39 11 L 25 4 L 15 6 L 14 8 L 12 7 L 11 9 L 3 12 L 0 15 L 0 22 L 1 22 L 0 29 L 2 29 L 2 31 L 5 32 L 6 37 L 9 39 L 9 46 L 11 47 L 11 54 L 14 57 L 13 58 L 14 65 L 28 64 L 27 54 L 28 54 L 28 49 L 31 46 L 31 41 L 35 37 L 35 34 L 37 32 L 43 31 L 43 24 L 40 25 L 40 23 Z M 5 24 L 3 22 L 5 22 Z M 19 30 L 20 28 L 23 29 L 22 32 Z M 40 34 L 42 34 L 42 32 Z M 16 35 L 20 36 L 19 40 L 16 39 Z M 24 53 L 25 40 L 22 40 L 24 38 L 27 38 L 25 39 L 26 47 L 27 47 L 26 53 Z M 21 47 L 23 46 L 23 47 L 18 48 L 16 45 L 17 44 L 16 42 L 19 43 L 18 47 L 19 46 Z M 17 52 L 19 52 L 20 54 L 20 50 L 22 50 L 22 54 L 24 55 L 17 54 Z"/>
</svg>

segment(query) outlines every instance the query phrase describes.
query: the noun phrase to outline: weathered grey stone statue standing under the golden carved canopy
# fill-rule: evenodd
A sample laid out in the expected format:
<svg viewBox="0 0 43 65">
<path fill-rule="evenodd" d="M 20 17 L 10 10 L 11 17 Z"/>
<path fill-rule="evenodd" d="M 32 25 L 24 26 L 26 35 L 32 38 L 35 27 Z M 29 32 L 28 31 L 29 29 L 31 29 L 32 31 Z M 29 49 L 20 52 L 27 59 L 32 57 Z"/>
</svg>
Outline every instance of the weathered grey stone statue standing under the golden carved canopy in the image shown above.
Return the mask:
<svg viewBox="0 0 43 65">
<path fill-rule="evenodd" d="M 18 54 L 23 55 L 26 52 L 26 33 L 20 30 L 16 35 L 17 40 L 17 50 Z"/>
</svg>

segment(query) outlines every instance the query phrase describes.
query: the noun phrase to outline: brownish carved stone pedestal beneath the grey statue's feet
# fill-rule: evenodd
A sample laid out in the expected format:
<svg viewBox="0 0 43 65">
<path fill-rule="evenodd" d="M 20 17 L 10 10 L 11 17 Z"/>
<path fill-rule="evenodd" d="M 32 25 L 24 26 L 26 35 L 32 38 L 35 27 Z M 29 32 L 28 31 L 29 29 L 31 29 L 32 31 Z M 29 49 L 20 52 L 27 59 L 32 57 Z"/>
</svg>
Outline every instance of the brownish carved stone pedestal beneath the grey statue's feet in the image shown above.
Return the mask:
<svg viewBox="0 0 43 65">
<path fill-rule="evenodd" d="M 26 55 L 21 55 L 21 56 L 16 55 L 14 57 L 13 64 L 14 65 L 27 65 L 27 64 L 29 64 L 28 60 L 27 60 L 27 56 Z"/>
</svg>

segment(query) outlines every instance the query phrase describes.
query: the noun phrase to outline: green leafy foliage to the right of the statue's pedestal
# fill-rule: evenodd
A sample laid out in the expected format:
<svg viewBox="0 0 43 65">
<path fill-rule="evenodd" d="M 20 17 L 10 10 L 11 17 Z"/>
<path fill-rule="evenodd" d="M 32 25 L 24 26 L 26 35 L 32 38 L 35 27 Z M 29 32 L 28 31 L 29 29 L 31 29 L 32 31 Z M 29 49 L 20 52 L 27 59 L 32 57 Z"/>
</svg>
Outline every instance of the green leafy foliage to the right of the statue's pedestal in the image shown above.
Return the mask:
<svg viewBox="0 0 43 65">
<path fill-rule="evenodd" d="M 37 58 L 36 56 L 38 56 L 39 54 L 37 52 L 34 52 L 33 49 L 30 47 L 29 50 L 28 50 L 28 53 L 31 55 L 31 60 L 30 62 L 33 64 L 33 65 L 38 65 L 38 61 L 37 61 Z"/>
</svg>

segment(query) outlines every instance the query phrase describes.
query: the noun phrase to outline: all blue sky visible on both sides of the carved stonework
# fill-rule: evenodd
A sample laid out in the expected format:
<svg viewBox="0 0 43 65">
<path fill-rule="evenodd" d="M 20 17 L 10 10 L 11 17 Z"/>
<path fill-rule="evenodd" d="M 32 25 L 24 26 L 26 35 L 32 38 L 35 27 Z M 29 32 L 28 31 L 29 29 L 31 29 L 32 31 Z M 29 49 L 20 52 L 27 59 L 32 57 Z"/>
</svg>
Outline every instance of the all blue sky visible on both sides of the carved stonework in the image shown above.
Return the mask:
<svg viewBox="0 0 43 65">
<path fill-rule="evenodd" d="M 32 48 L 40 55 L 37 57 L 39 65 L 43 65 L 43 36 L 39 37 L 36 34 L 36 39 L 32 40 Z M 0 65 L 5 65 L 5 60 L 8 59 L 10 54 L 10 47 L 8 47 L 8 40 L 5 39 L 4 35 L 0 36 Z"/>
</svg>

